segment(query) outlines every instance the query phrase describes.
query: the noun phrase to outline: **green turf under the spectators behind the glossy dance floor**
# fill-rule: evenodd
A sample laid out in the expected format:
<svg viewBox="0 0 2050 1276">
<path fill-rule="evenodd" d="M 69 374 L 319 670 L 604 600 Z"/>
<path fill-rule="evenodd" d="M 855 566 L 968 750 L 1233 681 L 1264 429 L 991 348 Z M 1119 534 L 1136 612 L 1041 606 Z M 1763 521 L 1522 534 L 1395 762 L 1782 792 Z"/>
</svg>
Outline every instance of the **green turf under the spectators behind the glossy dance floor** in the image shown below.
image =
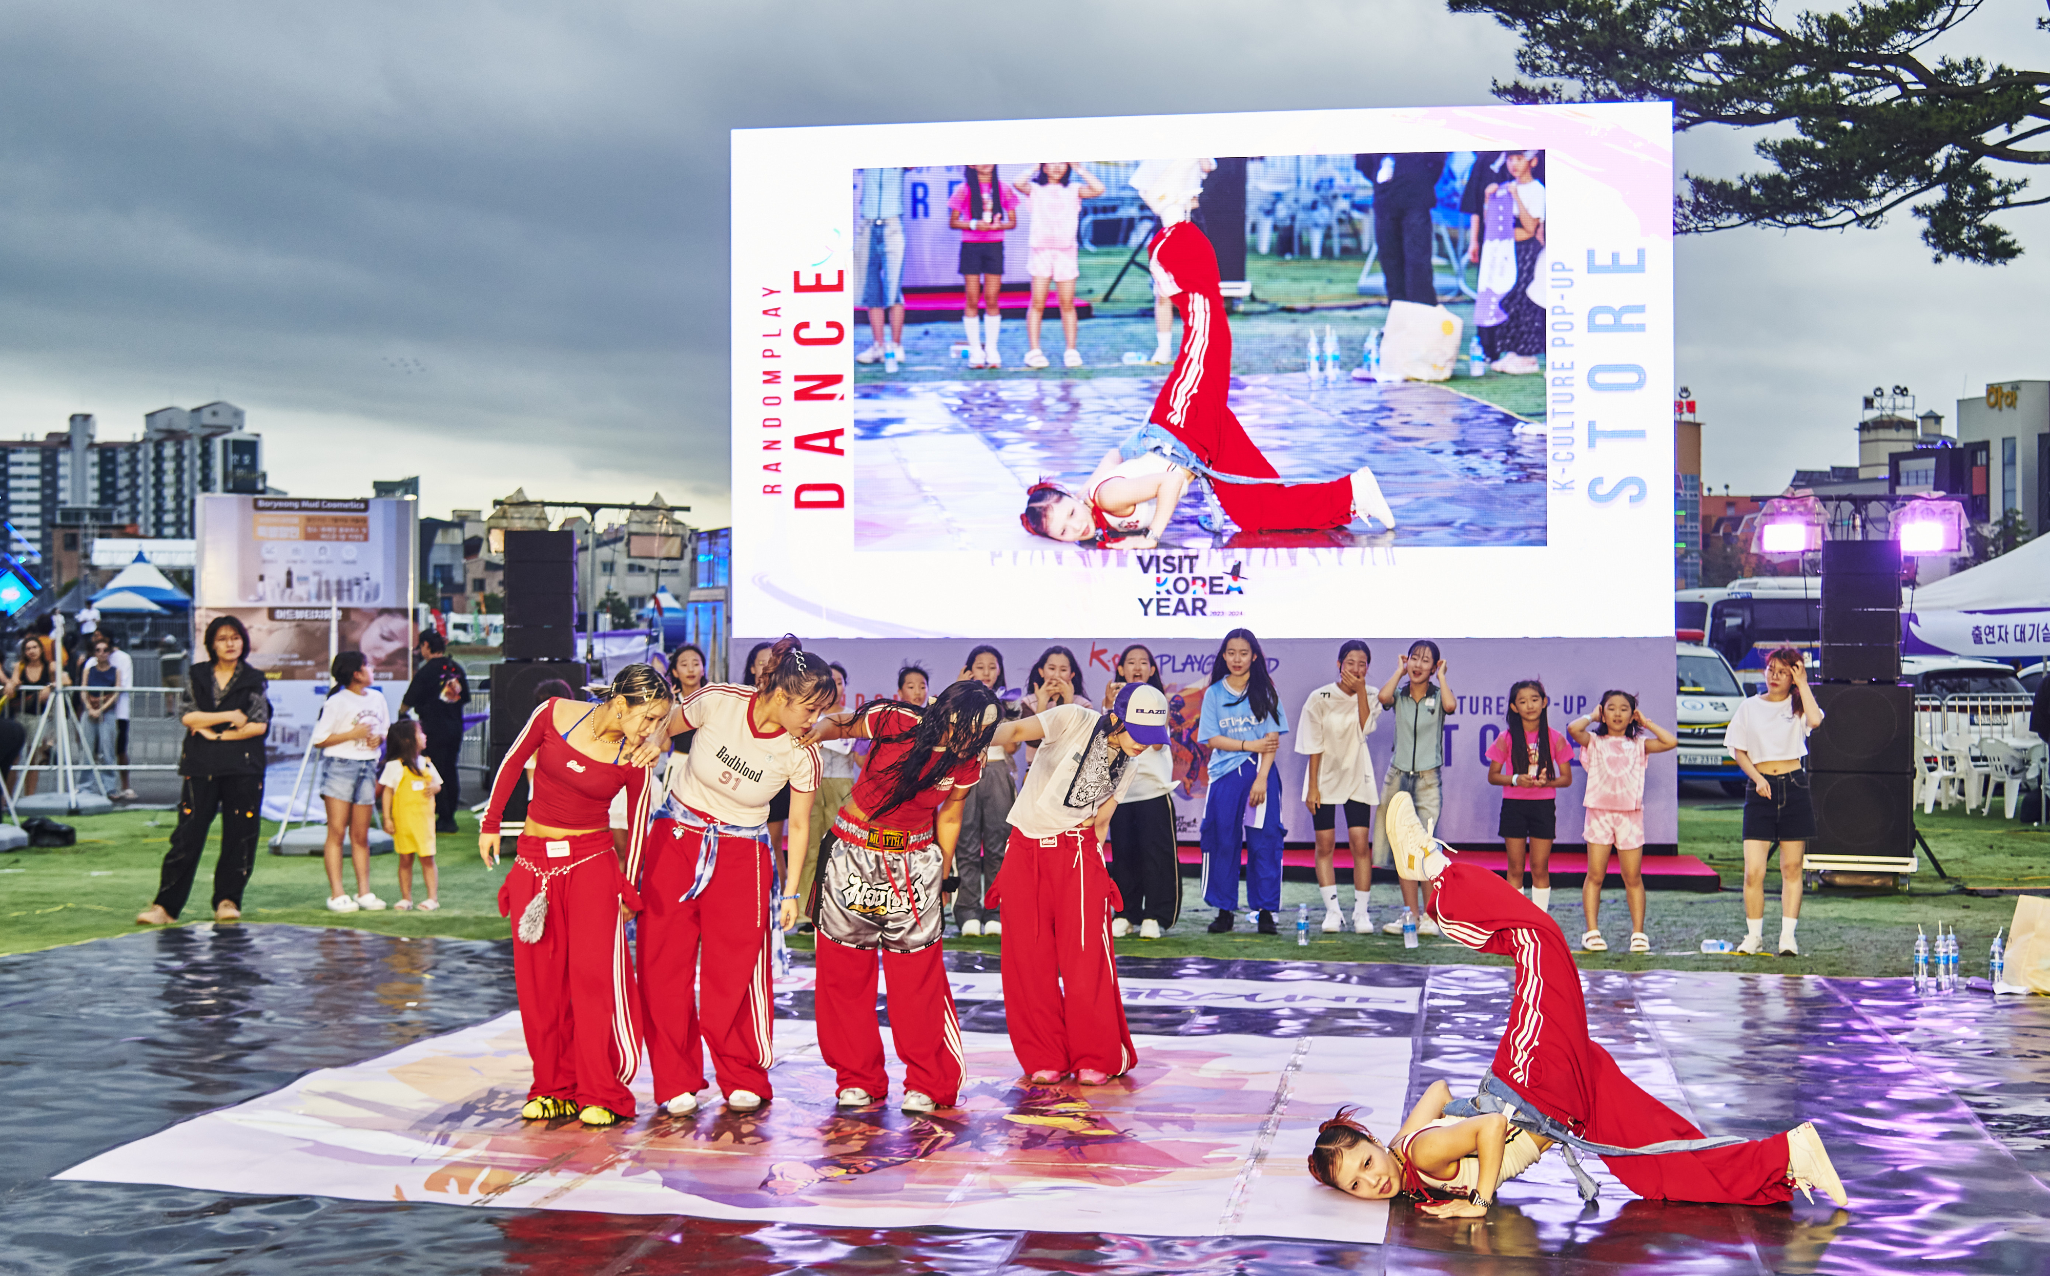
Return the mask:
<svg viewBox="0 0 2050 1276">
<path fill-rule="evenodd" d="M 82 817 L 78 846 L 57 850 L 20 850 L 0 856 L 0 952 L 27 952 L 53 944 L 72 944 L 135 930 L 133 916 L 156 893 L 164 838 L 170 834 L 170 811 L 117 811 Z M 504 918 L 498 916 L 496 891 L 504 868 L 486 870 L 476 856 L 474 817 L 459 815 L 463 834 L 441 840 L 443 879 L 439 913 L 330 913 L 324 907 L 328 887 L 320 856 L 273 856 L 260 850 L 256 873 L 244 895 L 246 924 L 295 922 L 301 926 L 355 926 L 379 934 L 447 934 L 461 938 L 504 938 Z M 2050 830 L 2034 832 L 2003 819 L 1962 813 L 1917 815 L 1943 866 L 1954 875 L 1939 879 L 1927 868 L 1902 891 L 1810 891 L 1802 907 L 1800 959 L 1777 956 L 1704 956 L 1704 938 L 1736 942 L 1745 934 L 1742 856 L 1738 850 L 1740 809 L 1736 803 L 1681 809 L 1681 850 L 1701 858 L 1722 875 L 1720 893 L 1652 891 L 1648 930 L 1654 952 L 1630 956 L 1619 952 L 1630 934 L 1624 893 L 1609 887 L 1603 895 L 1603 932 L 1611 944 L 1607 954 L 1581 954 L 1589 969 L 1695 969 L 1695 971 L 1786 971 L 1804 975 L 1906 975 L 1915 944 L 1915 926 L 1933 934 L 1935 924 L 1956 926 L 1968 975 L 1984 975 L 1986 946 L 1993 932 L 2013 918 L 2011 897 L 1970 895 L 1974 891 L 2050 891 Z M 264 836 L 269 838 L 266 825 Z M 371 887 L 387 901 L 398 899 L 396 856 L 371 856 Z M 207 885 L 213 873 L 209 850 L 195 903 L 187 922 L 209 922 Z M 1611 879 L 1613 881 L 1613 879 Z M 1779 934 L 1779 875 L 1765 883 L 1765 938 Z M 422 897 L 418 881 L 416 897 Z M 1423 936 L 1412 950 L 1398 936 L 1357 936 L 1349 932 L 1322 934 L 1322 903 L 1310 883 L 1283 883 L 1279 936 L 1253 934 L 1253 918 L 1238 916 L 1238 928 L 1226 936 L 1205 934 L 1212 911 L 1201 905 L 1195 879 L 1183 879 L 1183 918 L 1160 940 L 1128 936 L 1117 950 L 1132 956 L 1230 956 L 1279 961 L 1394 961 L 1394 963 L 1478 963 L 1505 965 L 1503 959 L 1474 954 L 1441 938 Z M 1351 891 L 1345 893 L 1347 909 Z M 1296 907 L 1310 903 L 1312 934 L 1308 946 L 1296 944 Z M 1376 922 L 1386 922 L 1396 909 L 1392 885 L 1373 889 Z M 1568 938 L 1585 930 L 1578 891 L 1560 889 L 1552 897 L 1552 916 Z M 795 948 L 808 948 L 802 936 Z M 1000 940 L 953 938 L 955 950 L 1000 950 Z"/>
</svg>

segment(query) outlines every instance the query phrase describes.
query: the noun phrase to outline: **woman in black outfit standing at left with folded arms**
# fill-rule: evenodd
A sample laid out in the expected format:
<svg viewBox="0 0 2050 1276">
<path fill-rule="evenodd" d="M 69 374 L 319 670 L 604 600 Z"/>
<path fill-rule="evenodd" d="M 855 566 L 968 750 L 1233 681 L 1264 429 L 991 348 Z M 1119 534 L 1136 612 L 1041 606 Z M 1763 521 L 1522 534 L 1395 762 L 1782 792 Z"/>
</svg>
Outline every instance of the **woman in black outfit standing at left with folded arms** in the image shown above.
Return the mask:
<svg viewBox="0 0 2050 1276">
<path fill-rule="evenodd" d="M 195 664 L 184 678 L 187 727 L 178 774 L 178 827 L 170 834 L 156 899 L 135 913 L 139 926 L 168 926 L 184 911 L 199 854 L 221 813 L 221 856 L 213 864 L 213 920 L 242 918 L 242 887 L 256 866 L 262 832 L 262 737 L 271 729 L 264 676 L 250 666 L 250 635 L 242 621 L 215 616 L 207 625 L 211 664 Z"/>
</svg>

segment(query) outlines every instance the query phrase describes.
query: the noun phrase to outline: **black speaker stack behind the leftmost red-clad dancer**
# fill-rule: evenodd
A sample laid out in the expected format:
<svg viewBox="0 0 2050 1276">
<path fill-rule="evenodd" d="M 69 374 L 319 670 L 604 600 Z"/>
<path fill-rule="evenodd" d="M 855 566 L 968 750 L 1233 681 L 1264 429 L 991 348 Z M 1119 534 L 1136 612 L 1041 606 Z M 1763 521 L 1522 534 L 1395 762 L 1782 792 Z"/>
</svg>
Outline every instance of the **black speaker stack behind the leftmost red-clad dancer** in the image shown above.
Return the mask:
<svg viewBox="0 0 2050 1276">
<path fill-rule="evenodd" d="M 504 533 L 504 660 L 492 666 L 492 715 L 486 737 L 490 774 L 533 717 L 539 688 L 564 682 L 582 698 L 588 668 L 576 660 L 576 533 Z M 527 782 L 506 803 L 508 821 L 527 813 Z"/>
</svg>

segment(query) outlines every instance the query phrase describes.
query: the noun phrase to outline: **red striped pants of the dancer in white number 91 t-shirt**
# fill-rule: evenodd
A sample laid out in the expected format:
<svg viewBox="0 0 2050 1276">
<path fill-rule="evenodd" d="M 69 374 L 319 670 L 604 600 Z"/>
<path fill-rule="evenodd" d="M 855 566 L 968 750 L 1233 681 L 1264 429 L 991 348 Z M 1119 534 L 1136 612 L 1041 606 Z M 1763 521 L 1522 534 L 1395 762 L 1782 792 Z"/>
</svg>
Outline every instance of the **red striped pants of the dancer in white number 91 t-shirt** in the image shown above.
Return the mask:
<svg viewBox="0 0 2050 1276">
<path fill-rule="evenodd" d="M 654 1102 L 703 1090 L 705 1051 L 720 1090 L 771 1098 L 769 852 L 746 838 L 720 838 L 711 883 L 685 899 L 697 875 L 697 830 L 658 819 L 642 852 L 640 987 Z"/>
</svg>

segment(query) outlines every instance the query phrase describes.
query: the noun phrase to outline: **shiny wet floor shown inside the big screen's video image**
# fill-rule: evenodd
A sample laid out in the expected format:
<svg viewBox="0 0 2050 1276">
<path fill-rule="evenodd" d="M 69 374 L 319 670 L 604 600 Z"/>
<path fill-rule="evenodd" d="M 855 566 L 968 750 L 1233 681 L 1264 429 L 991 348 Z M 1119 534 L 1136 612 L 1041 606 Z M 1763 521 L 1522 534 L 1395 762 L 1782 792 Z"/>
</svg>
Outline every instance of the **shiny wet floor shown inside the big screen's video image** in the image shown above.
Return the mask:
<svg viewBox="0 0 2050 1276">
<path fill-rule="evenodd" d="M 916 381 L 855 389 L 859 549 L 1035 549 L 1019 526 L 1025 490 L 1080 487 L 1107 451 L 1146 422 L 1158 377 L 1089 381 Z M 1371 465 L 1394 535 L 1365 522 L 1332 533 L 1230 535 L 1197 524 L 1183 500 L 1162 545 L 1191 549 L 1544 545 L 1544 434 L 1441 385 L 1302 375 L 1232 377 L 1232 412 L 1289 483 Z M 1525 426 L 1519 432 L 1519 426 Z"/>
</svg>

